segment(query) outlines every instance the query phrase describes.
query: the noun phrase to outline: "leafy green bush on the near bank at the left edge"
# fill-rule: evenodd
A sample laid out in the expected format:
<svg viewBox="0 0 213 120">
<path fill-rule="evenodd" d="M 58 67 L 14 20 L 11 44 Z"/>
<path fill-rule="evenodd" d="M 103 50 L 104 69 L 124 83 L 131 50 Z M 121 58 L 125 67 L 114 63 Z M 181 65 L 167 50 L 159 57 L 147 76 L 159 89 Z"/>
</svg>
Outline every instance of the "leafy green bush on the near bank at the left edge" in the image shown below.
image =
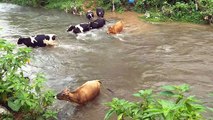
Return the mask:
<svg viewBox="0 0 213 120">
<path fill-rule="evenodd" d="M 30 52 L 29 48 L 16 49 L 0 39 L 0 104 L 23 119 L 55 118 L 56 112 L 48 107 L 55 95 L 50 90 L 42 91 L 44 76 L 38 74 L 30 80 L 21 69 L 29 61 Z"/>
</svg>

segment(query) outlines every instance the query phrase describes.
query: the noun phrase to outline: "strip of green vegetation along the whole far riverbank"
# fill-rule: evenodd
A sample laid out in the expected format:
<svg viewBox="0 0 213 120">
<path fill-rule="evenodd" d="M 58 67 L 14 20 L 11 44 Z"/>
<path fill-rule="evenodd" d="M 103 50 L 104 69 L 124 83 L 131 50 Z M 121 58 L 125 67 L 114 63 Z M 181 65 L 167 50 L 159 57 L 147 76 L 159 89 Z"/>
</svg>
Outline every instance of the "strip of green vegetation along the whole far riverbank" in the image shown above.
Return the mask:
<svg viewBox="0 0 213 120">
<path fill-rule="evenodd" d="M 205 16 L 212 16 L 213 19 L 213 0 L 135 0 L 128 3 L 128 0 L 0 0 L 2 2 L 12 2 L 20 5 L 46 8 L 56 8 L 72 11 L 83 10 L 83 6 L 89 8 L 96 3 L 107 10 L 112 9 L 114 3 L 115 10 L 118 12 L 133 10 L 139 13 L 147 13 L 148 16 L 142 17 L 148 21 L 182 21 L 193 23 L 208 23 L 204 20 Z M 114 2 L 113 2 L 114 1 Z M 83 5 L 87 3 L 86 5 Z M 213 22 L 213 20 L 212 20 Z"/>
</svg>

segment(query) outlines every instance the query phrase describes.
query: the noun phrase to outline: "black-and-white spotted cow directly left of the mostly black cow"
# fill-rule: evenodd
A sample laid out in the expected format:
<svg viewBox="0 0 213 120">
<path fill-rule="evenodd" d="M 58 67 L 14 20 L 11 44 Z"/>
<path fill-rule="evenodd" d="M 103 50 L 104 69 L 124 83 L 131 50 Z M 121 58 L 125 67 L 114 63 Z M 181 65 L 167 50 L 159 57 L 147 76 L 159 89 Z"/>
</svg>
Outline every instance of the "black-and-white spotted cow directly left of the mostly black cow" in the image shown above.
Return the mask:
<svg viewBox="0 0 213 120">
<path fill-rule="evenodd" d="M 77 25 L 70 25 L 67 32 L 83 33 L 90 30 L 90 23 L 80 23 Z"/>
</svg>

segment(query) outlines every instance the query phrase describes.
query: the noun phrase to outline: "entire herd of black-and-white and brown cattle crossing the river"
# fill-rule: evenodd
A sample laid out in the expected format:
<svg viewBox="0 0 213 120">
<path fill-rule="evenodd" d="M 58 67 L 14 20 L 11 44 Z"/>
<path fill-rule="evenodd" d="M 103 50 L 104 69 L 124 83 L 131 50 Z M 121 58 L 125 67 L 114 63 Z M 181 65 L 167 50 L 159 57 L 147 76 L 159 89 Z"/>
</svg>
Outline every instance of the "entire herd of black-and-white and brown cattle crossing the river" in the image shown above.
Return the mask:
<svg viewBox="0 0 213 120">
<path fill-rule="evenodd" d="M 106 24 L 104 19 L 104 9 L 97 8 L 96 15 L 97 19 L 94 19 L 94 13 L 88 11 L 86 13 L 86 18 L 89 20 L 88 23 L 80 23 L 77 25 L 70 25 L 67 29 L 67 32 L 72 32 L 74 34 L 83 33 L 91 29 L 98 29 L 103 27 Z M 108 27 L 107 33 L 117 34 L 123 30 L 123 22 L 118 21 L 113 26 Z M 55 34 L 39 34 L 30 37 L 20 37 L 17 44 L 24 44 L 27 47 L 45 47 L 45 46 L 54 46 L 57 45 Z M 88 101 L 93 100 L 100 93 L 100 80 L 91 80 L 84 83 L 82 86 L 76 88 L 74 91 L 69 89 L 64 89 L 62 92 L 57 94 L 57 99 L 66 100 L 70 102 L 75 102 L 77 104 L 85 104 Z"/>
</svg>

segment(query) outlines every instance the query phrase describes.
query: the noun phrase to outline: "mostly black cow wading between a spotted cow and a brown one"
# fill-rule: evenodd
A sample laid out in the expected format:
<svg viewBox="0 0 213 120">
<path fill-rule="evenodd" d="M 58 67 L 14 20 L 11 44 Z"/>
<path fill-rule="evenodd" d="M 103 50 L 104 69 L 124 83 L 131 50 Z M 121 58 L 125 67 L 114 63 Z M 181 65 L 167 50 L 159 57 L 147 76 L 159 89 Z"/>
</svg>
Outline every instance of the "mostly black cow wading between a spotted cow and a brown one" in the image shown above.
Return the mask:
<svg viewBox="0 0 213 120">
<path fill-rule="evenodd" d="M 91 29 L 98 29 L 103 27 L 106 24 L 106 20 L 104 18 L 98 18 L 92 22 L 90 22 Z"/>
</svg>

